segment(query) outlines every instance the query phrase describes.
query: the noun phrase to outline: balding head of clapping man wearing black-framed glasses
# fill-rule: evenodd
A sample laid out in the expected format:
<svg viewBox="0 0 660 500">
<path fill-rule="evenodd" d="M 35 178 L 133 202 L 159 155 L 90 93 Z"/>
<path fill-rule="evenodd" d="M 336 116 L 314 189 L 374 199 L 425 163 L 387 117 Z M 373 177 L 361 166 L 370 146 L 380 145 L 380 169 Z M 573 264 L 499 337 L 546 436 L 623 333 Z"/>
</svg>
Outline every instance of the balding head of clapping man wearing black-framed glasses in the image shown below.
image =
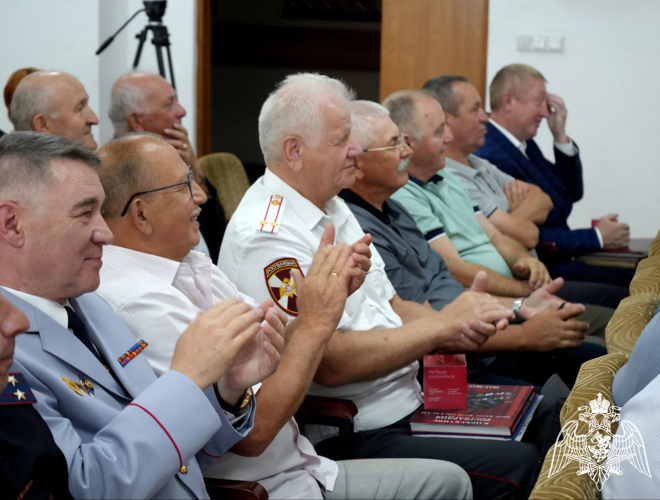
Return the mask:
<svg viewBox="0 0 660 500">
<path fill-rule="evenodd" d="M 176 149 L 155 134 L 137 133 L 109 142 L 99 156 L 102 213 L 115 245 L 180 261 L 199 244 L 206 195 Z"/>
</svg>

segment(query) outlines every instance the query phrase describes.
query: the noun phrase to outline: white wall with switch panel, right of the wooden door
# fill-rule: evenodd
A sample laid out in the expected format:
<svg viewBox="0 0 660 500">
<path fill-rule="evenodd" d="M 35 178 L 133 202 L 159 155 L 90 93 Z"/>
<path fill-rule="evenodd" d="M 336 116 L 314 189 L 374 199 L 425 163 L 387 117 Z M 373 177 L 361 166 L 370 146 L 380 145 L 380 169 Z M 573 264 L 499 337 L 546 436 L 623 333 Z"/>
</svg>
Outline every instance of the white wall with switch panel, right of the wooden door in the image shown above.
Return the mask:
<svg viewBox="0 0 660 500">
<path fill-rule="evenodd" d="M 633 237 L 660 229 L 660 2 L 657 0 L 490 0 L 488 82 L 504 65 L 539 69 L 564 98 L 568 134 L 580 146 L 585 196 L 571 227 L 608 212 Z M 564 35 L 564 52 L 518 52 L 518 33 Z M 552 136 L 537 137 L 552 158 Z"/>
</svg>

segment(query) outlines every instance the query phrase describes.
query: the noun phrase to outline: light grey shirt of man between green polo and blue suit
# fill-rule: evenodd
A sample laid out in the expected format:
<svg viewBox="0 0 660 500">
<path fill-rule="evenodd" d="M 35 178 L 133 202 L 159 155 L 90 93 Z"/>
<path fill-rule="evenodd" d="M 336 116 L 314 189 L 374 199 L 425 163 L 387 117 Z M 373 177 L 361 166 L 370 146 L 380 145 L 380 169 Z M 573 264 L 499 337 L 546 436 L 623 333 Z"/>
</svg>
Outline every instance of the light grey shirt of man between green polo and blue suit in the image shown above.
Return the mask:
<svg viewBox="0 0 660 500">
<path fill-rule="evenodd" d="M 445 168 L 458 177 L 486 217 L 490 217 L 498 208 L 508 213 L 509 200 L 504 194 L 504 186 L 515 178 L 478 156 L 470 155 L 468 161 L 472 168 L 447 158 Z"/>
</svg>

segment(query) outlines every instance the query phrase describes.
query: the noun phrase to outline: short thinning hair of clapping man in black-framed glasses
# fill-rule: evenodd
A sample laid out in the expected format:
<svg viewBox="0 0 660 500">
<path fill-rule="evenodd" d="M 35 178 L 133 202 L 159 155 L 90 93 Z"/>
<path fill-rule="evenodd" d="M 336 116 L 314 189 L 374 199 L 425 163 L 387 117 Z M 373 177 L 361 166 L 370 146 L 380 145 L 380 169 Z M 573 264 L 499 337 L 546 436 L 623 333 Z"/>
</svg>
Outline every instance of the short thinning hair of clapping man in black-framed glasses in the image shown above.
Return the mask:
<svg viewBox="0 0 660 500">
<path fill-rule="evenodd" d="M 99 150 L 99 177 L 105 191 L 101 215 L 105 218 L 119 217 L 134 193 L 154 188 L 154 172 L 149 168 L 149 155 L 135 144 L 136 139 L 141 137 L 167 144 L 162 136 L 152 132 L 130 132 L 113 139 Z"/>
</svg>

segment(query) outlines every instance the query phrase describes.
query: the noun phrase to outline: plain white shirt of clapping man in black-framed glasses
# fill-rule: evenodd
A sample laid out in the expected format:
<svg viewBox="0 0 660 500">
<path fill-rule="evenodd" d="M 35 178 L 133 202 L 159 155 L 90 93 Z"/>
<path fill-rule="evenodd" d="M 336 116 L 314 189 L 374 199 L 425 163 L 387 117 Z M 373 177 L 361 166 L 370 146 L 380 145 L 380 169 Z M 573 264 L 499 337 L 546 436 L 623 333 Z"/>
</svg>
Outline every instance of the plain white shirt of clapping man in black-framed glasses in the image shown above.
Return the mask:
<svg viewBox="0 0 660 500">
<path fill-rule="evenodd" d="M 143 354 L 157 375 L 169 368 L 179 336 L 201 312 L 229 298 L 258 305 L 240 293 L 210 258 L 195 251 L 179 263 L 105 247 L 98 293 L 135 337 L 149 344 Z M 204 475 L 258 481 L 270 498 L 323 498 L 319 483 L 332 491 L 337 473 L 337 464 L 318 456 L 291 419 L 259 457 L 228 453 Z"/>
</svg>

